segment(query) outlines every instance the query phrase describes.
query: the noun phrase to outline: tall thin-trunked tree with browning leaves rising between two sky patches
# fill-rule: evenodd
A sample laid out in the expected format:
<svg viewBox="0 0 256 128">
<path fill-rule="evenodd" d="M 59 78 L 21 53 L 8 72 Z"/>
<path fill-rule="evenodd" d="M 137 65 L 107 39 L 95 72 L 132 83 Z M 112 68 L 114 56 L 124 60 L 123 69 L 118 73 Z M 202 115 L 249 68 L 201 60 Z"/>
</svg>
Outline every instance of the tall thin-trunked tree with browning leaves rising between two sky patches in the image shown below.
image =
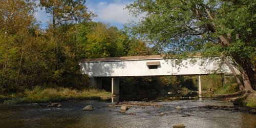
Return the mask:
<svg viewBox="0 0 256 128">
<path fill-rule="evenodd" d="M 66 36 L 66 32 L 72 25 L 90 21 L 95 15 L 88 11 L 86 0 L 40 0 L 41 8 L 52 17 L 52 23 L 49 25 L 50 37 L 55 42 L 54 53 L 56 55 L 55 70 L 60 70 L 61 62 L 61 43 Z M 62 29 L 62 30 L 61 30 Z M 62 32 L 61 32 L 62 31 Z"/>
</svg>

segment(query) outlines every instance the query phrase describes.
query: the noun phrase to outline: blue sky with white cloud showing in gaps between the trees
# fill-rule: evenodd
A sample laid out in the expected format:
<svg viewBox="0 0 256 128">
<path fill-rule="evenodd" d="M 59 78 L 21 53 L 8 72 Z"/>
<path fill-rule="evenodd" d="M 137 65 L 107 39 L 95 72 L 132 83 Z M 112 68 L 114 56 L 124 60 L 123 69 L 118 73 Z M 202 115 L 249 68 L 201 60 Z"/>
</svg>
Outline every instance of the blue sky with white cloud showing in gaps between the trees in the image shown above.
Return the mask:
<svg viewBox="0 0 256 128">
<path fill-rule="evenodd" d="M 124 9 L 127 4 L 132 2 L 133 0 L 87 0 L 86 6 L 89 11 L 98 15 L 93 18 L 94 22 L 102 22 L 122 29 L 126 23 L 139 21 L 139 17 L 131 16 L 129 11 Z M 52 19 L 44 9 L 38 8 L 37 10 L 36 19 L 41 22 L 40 27 L 45 29 Z"/>
</svg>

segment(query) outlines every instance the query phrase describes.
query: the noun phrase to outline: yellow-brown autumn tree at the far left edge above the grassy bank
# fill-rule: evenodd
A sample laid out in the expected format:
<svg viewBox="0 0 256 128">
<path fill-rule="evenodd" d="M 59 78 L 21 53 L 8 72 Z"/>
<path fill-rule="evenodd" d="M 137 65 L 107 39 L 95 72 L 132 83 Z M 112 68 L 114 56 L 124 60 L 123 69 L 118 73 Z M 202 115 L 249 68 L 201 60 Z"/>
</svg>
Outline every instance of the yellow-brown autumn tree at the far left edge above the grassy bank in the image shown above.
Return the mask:
<svg viewBox="0 0 256 128">
<path fill-rule="evenodd" d="M 34 0 L 0 0 L 0 88 L 19 88 L 34 25 Z M 0 89 L 1 90 L 1 89 Z"/>
</svg>

